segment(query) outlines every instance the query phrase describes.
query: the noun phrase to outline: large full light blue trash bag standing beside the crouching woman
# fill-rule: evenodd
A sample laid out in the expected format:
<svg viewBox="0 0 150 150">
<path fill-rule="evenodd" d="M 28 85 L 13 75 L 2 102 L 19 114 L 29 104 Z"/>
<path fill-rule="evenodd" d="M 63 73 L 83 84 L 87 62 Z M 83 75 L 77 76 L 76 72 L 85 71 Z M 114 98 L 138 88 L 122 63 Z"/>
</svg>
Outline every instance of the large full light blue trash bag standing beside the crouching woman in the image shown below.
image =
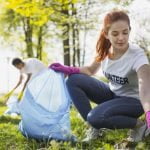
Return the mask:
<svg viewBox="0 0 150 150">
<path fill-rule="evenodd" d="M 64 74 L 51 69 L 40 72 L 29 82 L 19 108 L 19 129 L 27 138 L 75 140 L 70 129 L 70 97 Z"/>
</svg>

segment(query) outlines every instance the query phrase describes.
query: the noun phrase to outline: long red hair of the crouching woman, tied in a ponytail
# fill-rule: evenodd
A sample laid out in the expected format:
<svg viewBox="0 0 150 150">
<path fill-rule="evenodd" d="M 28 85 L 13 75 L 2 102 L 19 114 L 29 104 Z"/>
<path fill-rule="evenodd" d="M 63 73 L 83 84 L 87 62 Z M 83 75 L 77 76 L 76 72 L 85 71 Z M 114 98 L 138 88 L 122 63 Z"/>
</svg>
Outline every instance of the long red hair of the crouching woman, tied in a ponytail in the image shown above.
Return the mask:
<svg viewBox="0 0 150 150">
<path fill-rule="evenodd" d="M 105 35 L 108 33 L 111 24 L 118 20 L 127 21 L 129 24 L 129 29 L 131 29 L 129 16 L 124 11 L 112 11 L 108 13 L 104 18 L 103 29 L 101 30 L 96 44 L 97 55 L 95 59 L 97 62 L 104 60 L 108 55 L 111 43 L 108 39 L 106 39 Z"/>
</svg>

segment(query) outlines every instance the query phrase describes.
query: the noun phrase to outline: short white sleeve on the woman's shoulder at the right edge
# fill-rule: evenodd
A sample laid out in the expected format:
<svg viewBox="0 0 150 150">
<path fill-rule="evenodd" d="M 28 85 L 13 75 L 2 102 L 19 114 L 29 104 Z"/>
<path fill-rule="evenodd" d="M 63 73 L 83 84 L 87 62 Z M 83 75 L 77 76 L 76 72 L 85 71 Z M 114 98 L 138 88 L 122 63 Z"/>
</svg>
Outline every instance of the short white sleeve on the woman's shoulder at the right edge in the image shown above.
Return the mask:
<svg viewBox="0 0 150 150">
<path fill-rule="evenodd" d="M 135 70 L 136 72 L 138 71 L 138 69 L 145 65 L 145 64 L 149 64 L 148 58 L 144 52 L 144 50 L 140 49 L 138 51 L 138 53 L 136 54 L 136 56 L 133 58 L 134 59 L 134 63 L 133 63 L 133 70 Z"/>
</svg>

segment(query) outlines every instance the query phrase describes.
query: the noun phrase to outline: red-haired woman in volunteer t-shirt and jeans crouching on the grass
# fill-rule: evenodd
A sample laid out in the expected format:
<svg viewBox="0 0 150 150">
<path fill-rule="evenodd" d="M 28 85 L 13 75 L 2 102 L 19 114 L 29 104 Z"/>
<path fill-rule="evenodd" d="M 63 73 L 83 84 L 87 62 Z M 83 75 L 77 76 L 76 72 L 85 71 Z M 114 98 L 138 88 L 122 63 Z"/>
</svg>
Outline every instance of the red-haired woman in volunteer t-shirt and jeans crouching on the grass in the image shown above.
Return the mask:
<svg viewBox="0 0 150 150">
<path fill-rule="evenodd" d="M 69 75 L 67 87 L 72 101 L 91 126 L 85 141 L 98 138 L 102 128 L 132 129 L 130 140 L 139 141 L 150 129 L 150 65 L 144 50 L 129 43 L 130 31 L 127 13 L 111 11 L 104 18 L 97 56 L 91 65 L 49 66 Z M 109 84 L 91 77 L 100 67 Z M 90 101 L 97 106 L 92 108 Z M 139 119 L 143 113 L 146 124 Z"/>
</svg>

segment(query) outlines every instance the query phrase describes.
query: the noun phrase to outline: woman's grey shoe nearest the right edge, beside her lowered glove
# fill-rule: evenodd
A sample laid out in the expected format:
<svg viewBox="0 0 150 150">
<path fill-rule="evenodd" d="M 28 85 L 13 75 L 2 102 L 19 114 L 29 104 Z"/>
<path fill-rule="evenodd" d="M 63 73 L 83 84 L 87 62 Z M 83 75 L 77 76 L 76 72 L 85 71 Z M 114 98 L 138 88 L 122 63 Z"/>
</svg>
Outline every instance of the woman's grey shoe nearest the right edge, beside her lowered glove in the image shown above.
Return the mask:
<svg viewBox="0 0 150 150">
<path fill-rule="evenodd" d="M 146 123 L 144 125 L 140 126 L 139 128 L 134 128 L 134 129 L 130 130 L 130 135 L 127 138 L 127 141 L 129 141 L 129 142 L 142 141 L 143 138 L 145 137 L 146 130 L 147 130 Z"/>
</svg>

